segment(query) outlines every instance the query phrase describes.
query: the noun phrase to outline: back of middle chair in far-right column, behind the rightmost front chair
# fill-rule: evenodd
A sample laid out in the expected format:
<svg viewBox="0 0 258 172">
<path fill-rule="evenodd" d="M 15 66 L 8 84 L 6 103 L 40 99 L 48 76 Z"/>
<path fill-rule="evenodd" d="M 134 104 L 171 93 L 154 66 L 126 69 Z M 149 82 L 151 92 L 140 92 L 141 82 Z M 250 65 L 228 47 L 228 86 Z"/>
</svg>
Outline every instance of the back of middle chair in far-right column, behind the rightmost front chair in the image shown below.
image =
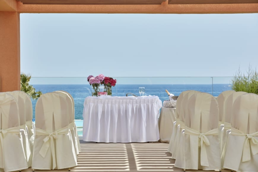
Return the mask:
<svg viewBox="0 0 258 172">
<path fill-rule="evenodd" d="M 238 96 L 246 94 L 246 92 L 238 91 L 234 92 L 228 96 L 225 102 L 225 114 L 224 114 L 224 122 L 231 123 L 232 111 L 233 111 L 233 104 Z"/>
</svg>

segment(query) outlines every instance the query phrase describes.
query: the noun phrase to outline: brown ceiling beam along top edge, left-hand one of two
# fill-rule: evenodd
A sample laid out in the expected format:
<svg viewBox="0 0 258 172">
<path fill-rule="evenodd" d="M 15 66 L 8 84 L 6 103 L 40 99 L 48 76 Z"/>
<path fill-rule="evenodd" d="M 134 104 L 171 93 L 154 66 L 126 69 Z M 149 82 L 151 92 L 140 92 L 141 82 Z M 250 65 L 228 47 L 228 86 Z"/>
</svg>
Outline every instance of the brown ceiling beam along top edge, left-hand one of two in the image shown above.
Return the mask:
<svg viewBox="0 0 258 172">
<path fill-rule="evenodd" d="M 53 5 L 155 5 L 166 0 L 20 0 L 23 4 Z"/>
</svg>

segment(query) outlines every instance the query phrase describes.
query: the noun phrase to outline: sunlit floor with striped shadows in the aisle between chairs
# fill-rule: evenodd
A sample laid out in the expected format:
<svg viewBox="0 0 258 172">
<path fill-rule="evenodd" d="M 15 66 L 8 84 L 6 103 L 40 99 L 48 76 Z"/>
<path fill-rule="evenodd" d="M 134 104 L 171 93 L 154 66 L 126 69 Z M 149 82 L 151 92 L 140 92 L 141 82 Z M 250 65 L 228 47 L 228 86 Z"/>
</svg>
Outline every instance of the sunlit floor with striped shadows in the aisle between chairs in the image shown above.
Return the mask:
<svg viewBox="0 0 258 172">
<path fill-rule="evenodd" d="M 71 168 L 71 171 L 183 171 L 174 167 L 175 160 L 167 152 L 167 143 L 80 142 L 82 152 L 78 156 L 78 165 Z M 24 171 L 31 171 L 31 168 Z"/>
</svg>

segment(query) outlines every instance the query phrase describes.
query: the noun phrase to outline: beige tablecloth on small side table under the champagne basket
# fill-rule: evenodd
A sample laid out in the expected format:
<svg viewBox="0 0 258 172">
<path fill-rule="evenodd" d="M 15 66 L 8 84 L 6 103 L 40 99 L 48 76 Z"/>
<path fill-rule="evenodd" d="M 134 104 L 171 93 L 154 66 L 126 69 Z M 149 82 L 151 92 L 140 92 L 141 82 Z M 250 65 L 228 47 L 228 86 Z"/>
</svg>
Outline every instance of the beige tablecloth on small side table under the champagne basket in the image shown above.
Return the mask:
<svg viewBox="0 0 258 172">
<path fill-rule="evenodd" d="M 162 107 L 159 117 L 160 142 L 169 143 L 175 121 L 176 108 Z"/>
</svg>

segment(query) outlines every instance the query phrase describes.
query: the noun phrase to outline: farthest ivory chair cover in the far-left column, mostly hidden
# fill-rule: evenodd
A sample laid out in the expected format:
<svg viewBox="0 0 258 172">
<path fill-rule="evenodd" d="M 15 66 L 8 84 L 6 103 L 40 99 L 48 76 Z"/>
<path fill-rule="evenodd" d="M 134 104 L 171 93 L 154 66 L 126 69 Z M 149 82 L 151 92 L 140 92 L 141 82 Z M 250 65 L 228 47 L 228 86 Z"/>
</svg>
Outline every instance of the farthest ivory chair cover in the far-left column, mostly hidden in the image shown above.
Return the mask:
<svg viewBox="0 0 258 172">
<path fill-rule="evenodd" d="M 31 156 L 28 160 L 28 166 L 31 166 L 32 163 L 32 152 L 33 152 L 33 145 L 34 145 L 34 133 L 35 133 L 35 125 L 34 122 L 32 122 L 32 103 L 31 98 L 28 96 L 28 94 L 24 93 L 23 91 L 13 91 L 13 92 L 20 92 L 20 96 L 23 98 L 25 102 L 25 118 L 26 118 L 26 126 L 28 128 L 28 140 L 31 150 Z"/>
</svg>

